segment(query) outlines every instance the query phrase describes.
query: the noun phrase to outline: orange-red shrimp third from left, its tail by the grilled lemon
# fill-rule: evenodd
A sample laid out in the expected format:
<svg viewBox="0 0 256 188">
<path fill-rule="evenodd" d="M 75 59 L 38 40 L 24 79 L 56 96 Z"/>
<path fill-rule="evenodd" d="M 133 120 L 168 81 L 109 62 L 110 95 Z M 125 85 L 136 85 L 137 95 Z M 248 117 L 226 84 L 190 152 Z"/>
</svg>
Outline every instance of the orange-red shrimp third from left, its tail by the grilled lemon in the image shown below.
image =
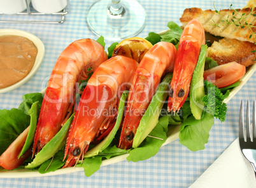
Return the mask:
<svg viewBox="0 0 256 188">
<path fill-rule="evenodd" d="M 172 43 L 155 44 L 139 63 L 129 91 L 127 108 L 118 147 L 129 149 L 139 121 L 152 99 L 161 77 L 173 71 L 176 48 Z"/>
</svg>

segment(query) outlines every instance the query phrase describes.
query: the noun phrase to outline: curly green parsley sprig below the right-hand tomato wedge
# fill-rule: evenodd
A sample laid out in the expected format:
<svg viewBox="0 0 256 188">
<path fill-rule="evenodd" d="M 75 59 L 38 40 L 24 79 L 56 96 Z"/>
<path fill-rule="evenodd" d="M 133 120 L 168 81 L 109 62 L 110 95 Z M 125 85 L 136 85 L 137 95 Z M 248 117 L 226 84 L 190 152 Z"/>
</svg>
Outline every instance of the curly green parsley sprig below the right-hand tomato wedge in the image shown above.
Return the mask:
<svg viewBox="0 0 256 188">
<path fill-rule="evenodd" d="M 214 117 L 220 119 L 222 122 L 225 121 L 227 105 L 222 102 L 224 95 L 220 89 L 213 83 L 204 81 L 204 90 L 206 95 L 202 97 L 202 100 L 206 106 L 206 112 L 213 114 Z"/>
</svg>

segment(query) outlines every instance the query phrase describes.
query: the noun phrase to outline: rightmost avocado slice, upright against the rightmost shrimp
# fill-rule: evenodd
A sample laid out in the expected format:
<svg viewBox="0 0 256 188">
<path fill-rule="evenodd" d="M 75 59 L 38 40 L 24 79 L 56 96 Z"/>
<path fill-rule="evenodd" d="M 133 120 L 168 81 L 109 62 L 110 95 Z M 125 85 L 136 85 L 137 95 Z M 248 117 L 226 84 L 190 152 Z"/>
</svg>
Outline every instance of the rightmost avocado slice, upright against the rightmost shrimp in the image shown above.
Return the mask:
<svg viewBox="0 0 256 188">
<path fill-rule="evenodd" d="M 202 97 L 204 97 L 204 62 L 206 58 L 206 50 L 207 45 L 201 46 L 201 51 L 199 54 L 199 58 L 197 60 L 196 68 L 192 75 L 192 80 L 190 83 L 190 91 L 189 91 L 189 100 L 190 100 L 190 109 L 195 117 L 195 119 L 201 119 L 204 102 Z"/>
</svg>

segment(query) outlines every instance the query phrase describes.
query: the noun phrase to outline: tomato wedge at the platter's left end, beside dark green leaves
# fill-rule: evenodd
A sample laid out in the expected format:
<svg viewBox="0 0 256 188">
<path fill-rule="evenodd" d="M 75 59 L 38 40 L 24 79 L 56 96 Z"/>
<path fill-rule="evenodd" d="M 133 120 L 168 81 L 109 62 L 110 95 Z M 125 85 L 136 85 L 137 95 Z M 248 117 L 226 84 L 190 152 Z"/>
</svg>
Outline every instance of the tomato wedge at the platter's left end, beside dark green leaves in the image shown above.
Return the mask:
<svg viewBox="0 0 256 188">
<path fill-rule="evenodd" d="M 29 133 L 29 126 L 11 143 L 11 145 L 3 152 L 0 156 L 0 166 L 7 170 L 12 170 L 17 168 L 24 161 L 31 156 L 32 152 L 28 149 L 24 155 L 18 158 L 18 154 L 22 151 L 22 147 L 25 144 L 27 138 L 27 133 Z"/>
</svg>

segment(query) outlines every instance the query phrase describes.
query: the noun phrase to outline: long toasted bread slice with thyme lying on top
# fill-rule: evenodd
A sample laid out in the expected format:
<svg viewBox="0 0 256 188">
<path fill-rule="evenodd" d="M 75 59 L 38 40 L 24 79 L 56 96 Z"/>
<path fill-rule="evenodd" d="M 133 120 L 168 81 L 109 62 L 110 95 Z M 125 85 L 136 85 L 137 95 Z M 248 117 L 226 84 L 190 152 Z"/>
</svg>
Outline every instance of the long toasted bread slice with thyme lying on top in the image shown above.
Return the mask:
<svg viewBox="0 0 256 188">
<path fill-rule="evenodd" d="M 256 11 L 256 8 L 252 11 Z M 256 17 L 250 15 L 252 11 L 250 8 L 245 8 L 238 10 L 238 13 L 241 15 L 245 14 L 244 17 L 248 15 L 248 17 L 245 18 L 246 22 L 256 26 Z M 221 10 L 220 15 L 232 22 L 231 19 L 234 19 L 233 17 L 240 17 L 238 13 L 234 13 L 234 15 L 232 15 L 233 12 L 233 10 Z M 234 24 L 224 24 L 224 22 L 222 22 L 223 18 L 220 15 L 213 10 L 203 11 L 201 8 L 187 8 L 184 10 L 182 17 L 180 18 L 180 22 L 185 26 L 190 20 L 197 18 L 202 23 L 204 30 L 206 32 L 210 32 L 210 34 L 228 37 L 230 39 L 238 39 L 239 41 L 256 42 L 254 37 L 250 37 L 252 35 L 252 31 L 249 27 L 244 27 L 242 29 Z M 245 20 L 241 20 L 241 24 L 245 24 Z M 253 27 L 252 30 L 253 32 L 256 32 L 256 27 Z"/>
</svg>

